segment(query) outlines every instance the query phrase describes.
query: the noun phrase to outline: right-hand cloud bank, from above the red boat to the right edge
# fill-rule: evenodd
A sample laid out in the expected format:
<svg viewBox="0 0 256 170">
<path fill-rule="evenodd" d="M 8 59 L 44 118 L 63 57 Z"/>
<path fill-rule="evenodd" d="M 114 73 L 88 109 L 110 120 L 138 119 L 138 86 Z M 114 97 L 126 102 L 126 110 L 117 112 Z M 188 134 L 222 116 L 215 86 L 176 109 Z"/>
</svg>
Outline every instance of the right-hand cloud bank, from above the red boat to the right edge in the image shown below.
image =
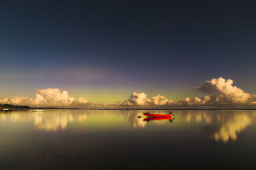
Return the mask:
<svg viewBox="0 0 256 170">
<path fill-rule="evenodd" d="M 255 105 L 256 95 L 245 93 L 233 85 L 233 81 L 222 77 L 205 81 L 195 87 L 199 92 L 206 93 L 205 97 L 186 97 L 183 101 L 172 101 L 164 96 L 151 99 L 145 93 L 133 93 L 121 105 L 154 105 L 154 106 L 214 106 L 214 105 Z"/>
</svg>

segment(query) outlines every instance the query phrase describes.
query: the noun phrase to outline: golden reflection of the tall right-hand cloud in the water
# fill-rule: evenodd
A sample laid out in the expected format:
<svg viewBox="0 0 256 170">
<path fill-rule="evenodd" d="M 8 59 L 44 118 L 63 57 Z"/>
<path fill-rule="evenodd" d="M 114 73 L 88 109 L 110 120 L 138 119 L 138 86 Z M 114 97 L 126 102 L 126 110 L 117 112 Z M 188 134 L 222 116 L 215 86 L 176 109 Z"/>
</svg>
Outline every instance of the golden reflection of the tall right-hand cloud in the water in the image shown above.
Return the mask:
<svg viewBox="0 0 256 170">
<path fill-rule="evenodd" d="M 237 140 L 238 133 L 252 124 L 254 116 L 253 114 L 241 112 L 206 113 L 206 111 L 198 111 L 197 113 L 187 113 L 184 117 L 186 122 L 203 121 L 206 124 L 203 130 L 210 138 L 226 143 L 230 140 Z"/>
</svg>

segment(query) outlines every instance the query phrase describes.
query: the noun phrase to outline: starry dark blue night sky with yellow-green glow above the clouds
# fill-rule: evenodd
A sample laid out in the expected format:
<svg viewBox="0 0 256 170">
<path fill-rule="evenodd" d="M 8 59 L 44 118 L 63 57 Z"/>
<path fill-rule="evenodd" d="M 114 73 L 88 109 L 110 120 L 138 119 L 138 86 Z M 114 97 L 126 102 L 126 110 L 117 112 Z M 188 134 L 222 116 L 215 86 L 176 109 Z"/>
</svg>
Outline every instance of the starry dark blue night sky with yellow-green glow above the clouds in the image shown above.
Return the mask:
<svg viewBox="0 0 256 170">
<path fill-rule="evenodd" d="M 202 96 L 211 78 L 256 92 L 256 2 L 0 2 L 0 97 L 58 88 L 92 102 L 134 91 Z"/>
</svg>

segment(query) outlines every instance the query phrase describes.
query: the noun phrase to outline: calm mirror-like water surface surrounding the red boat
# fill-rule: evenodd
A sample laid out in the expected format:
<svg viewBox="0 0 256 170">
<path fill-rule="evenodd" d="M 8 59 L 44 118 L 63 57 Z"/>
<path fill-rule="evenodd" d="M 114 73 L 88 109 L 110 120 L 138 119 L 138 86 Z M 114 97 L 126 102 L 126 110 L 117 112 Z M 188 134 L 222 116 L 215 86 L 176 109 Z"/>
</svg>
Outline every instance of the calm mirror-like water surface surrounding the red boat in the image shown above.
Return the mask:
<svg viewBox="0 0 256 170">
<path fill-rule="evenodd" d="M 256 111 L 142 113 L 0 112 L 0 169 L 256 168 Z"/>
</svg>

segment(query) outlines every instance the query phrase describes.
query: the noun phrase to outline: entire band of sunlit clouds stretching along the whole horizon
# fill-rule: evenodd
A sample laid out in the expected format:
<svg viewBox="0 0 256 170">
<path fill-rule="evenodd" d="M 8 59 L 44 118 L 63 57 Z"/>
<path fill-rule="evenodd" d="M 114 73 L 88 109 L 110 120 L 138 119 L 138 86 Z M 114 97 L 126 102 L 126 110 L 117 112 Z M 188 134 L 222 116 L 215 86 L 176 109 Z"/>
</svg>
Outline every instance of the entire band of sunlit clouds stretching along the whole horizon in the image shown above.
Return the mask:
<svg viewBox="0 0 256 170">
<path fill-rule="evenodd" d="M 182 101 L 172 101 L 164 96 L 157 95 L 148 98 L 146 93 L 132 93 L 128 100 L 116 104 L 90 103 L 86 98 L 74 99 L 67 91 L 61 89 L 37 89 L 35 98 L 13 97 L 2 98 L 0 103 L 11 105 L 28 105 L 35 107 L 70 107 L 70 108 L 162 108 L 162 107 L 189 107 L 189 106 L 220 106 L 220 105 L 256 105 L 256 95 L 245 93 L 242 89 L 233 85 L 230 79 L 222 77 L 205 81 L 201 86 L 195 87 L 205 97 L 186 97 Z"/>
</svg>

